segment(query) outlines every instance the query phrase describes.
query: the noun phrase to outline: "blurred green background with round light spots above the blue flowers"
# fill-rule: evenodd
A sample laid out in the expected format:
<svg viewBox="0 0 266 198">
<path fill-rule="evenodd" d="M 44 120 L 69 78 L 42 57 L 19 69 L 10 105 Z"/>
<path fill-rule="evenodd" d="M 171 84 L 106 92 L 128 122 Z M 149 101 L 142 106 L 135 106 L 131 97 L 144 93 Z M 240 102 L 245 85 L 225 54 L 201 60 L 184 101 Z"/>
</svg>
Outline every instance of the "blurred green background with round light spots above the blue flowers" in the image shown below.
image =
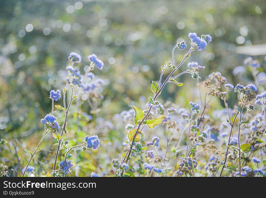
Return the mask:
<svg viewBox="0 0 266 198">
<path fill-rule="evenodd" d="M 18 155 L 24 156 L 19 162 L 14 148 L 10 146 L 10 151 L 5 152 L 0 148 L 2 163 L 9 166 L 20 163 L 24 167 L 28 159 L 24 148 L 33 150 L 37 145 L 43 130 L 39 120 L 50 111 L 49 91 L 62 90 L 63 71 L 72 51 L 82 55 L 82 63 L 77 64 L 82 74 L 84 66 L 89 64 L 86 56 L 95 53 L 104 62 L 102 71 L 94 71 L 108 81 L 102 91 L 104 100 L 99 102 L 101 110 L 97 117 L 111 120 L 115 113 L 129 110 L 129 104 L 139 101 L 140 96 L 151 95 L 151 80 L 159 79 L 160 65 L 171 61 L 171 51 L 177 41 L 185 40 L 188 44 L 189 32 L 212 36 L 206 50 L 193 52 L 189 59 L 206 65 L 200 76 L 205 79 L 209 73 L 219 71 L 234 85 L 253 81 L 247 67 L 241 76 L 232 74 L 251 54 L 248 49 L 245 54 L 238 54 L 236 47 L 266 43 L 266 2 L 263 0 L 1 0 L 0 3 L 0 136 L 14 145 L 17 140 Z M 176 62 L 183 59 L 184 53 L 176 51 Z M 259 70 L 263 72 L 265 53 L 257 55 L 253 58 L 260 61 Z M 182 70 L 187 69 L 187 62 Z M 188 105 L 195 97 L 193 91 L 188 90 L 193 90 L 196 81 L 190 75 L 183 75 L 179 81 L 184 86 L 167 85 L 160 101 Z M 234 104 L 234 98 L 229 103 Z M 82 108 L 90 114 L 88 105 Z M 93 121 L 90 124 L 92 132 L 84 134 L 102 133 L 94 129 Z M 112 141 L 112 131 L 107 133 L 106 141 Z M 75 142 L 83 139 L 82 135 L 68 138 L 74 138 Z M 117 139 L 122 142 L 125 136 Z M 51 141 L 47 142 L 49 138 Z M 46 150 L 40 155 L 40 161 L 41 158 L 53 161 L 54 139 L 49 138 L 42 146 Z M 105 155 L 107 153 L 102 151 L 100 157 Z"/>
</svg>

